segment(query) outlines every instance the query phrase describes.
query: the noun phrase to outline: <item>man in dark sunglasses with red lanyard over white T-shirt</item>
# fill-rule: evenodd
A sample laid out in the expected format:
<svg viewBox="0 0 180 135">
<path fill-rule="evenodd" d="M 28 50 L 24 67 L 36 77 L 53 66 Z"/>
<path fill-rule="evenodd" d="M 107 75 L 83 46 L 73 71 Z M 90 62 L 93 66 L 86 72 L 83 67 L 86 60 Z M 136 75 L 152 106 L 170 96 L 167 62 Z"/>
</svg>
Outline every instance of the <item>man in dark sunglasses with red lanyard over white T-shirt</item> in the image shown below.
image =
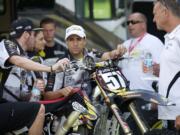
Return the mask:
<svg viewBox="0 0 180 135">
<path fill-rule="evenodd" d="M 153 80 L 145 80 L 153 77 L 153 63 L 159 63 L 159 54 L 163 49 L 163 43 L 155 36 L 147 32 L 147 18 L 144 14 L 135 12 L 129 15 L 127 20 L 128 32 L 130 39 L 123 44 L 118 45 L 118 48 L 125 46 L 127 49 L 125 57 L 129 59 L 121 62 L 122 72 L 130 81 L 130 89 L 144 89 L 153 91 Z M 145 70 L 144 61 L 146 54 L 151 56 L 151 66 Z M 137 101 L 136 106 L 143 112 L 144 118 L 148 124 L 153 125 L 154 120 L 157 120 L 157 113 L 154 113 L 151 108 L 147 108 L 149 104 L 143 101 Z M 151 114 L 151 116 L 149 115 Z M 141 134 L 133 124 L 131 117 L 128 118 L 131 129 L 134 134 Z"/>
</svg>

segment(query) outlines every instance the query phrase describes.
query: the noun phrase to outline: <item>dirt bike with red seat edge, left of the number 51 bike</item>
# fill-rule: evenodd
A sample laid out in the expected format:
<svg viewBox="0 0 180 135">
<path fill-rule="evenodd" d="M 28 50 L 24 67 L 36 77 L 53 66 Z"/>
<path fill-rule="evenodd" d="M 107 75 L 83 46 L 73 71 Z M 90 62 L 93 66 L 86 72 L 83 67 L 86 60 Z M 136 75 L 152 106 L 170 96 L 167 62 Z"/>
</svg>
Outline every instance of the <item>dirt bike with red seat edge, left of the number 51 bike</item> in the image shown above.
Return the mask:
<svg viewBox="0 0 180 135">
<path fill-rule="evenodd" d="M 43 127 L 44 135 L 69 135 L 71 132 L 87 135 L 84 130 L 76 130 L 82 123 L 91 128 L 93 125 L 89 120 L 97 118 L 96 112 L 86 99 L 85 95 L 78 88 L 74 88 L 72 94 L 68 97 L 54 100 L 42 100 L 40 104 L 45 106 L 45 122 Z M 66 118 L 62 118 L 66 116 Z M 27 135 L 28 129 L 22 128 L 16 131 L 6 133 L 6 135 Z"/>
</svg>

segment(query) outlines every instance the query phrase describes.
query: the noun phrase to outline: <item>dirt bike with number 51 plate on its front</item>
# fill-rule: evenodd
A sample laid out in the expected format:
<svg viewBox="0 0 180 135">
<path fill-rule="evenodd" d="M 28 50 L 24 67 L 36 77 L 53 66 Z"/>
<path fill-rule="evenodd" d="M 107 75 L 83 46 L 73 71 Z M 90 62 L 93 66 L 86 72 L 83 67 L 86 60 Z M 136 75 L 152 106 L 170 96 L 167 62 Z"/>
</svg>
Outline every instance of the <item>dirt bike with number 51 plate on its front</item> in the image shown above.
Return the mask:
<svg viewBox="0 0 180 135">
<path fill-rule="evenodd" d="M 106 125 L 107 122 L 105 122 L 106 120 L 103 120 L 103 118 L 100 118 L 98 121 L 99 124 L 98 122 L 96 123 L 94 134 L 133 135 L 133 132 L 123 115 L 126 111 L 130 112 L 133 116 L 141 134 L 172 134 L 172 132 L 168 130 L 151 129 L 151 127 L 149 127 L 142 119 L 142 116 L 136 109 L 134 101 L 142 99 L 163 106 L 174 104 L 156 92 L 140 89 L 129 90 L 128 81 L 117 66 L 118 61 L 122 59 L 124 58 L 94 62 L 93 58 L 87 57 L 84 61 L 84 68 L 91 72 L 93 71 L 92 79 L 95 80 L 100 91 L 99 94 L 103 98 L 103 102 L 107 105 L 108 109 L 105 109 L 105 114 L 109 115 L 109 113 L 107 113 L 109 111 L 111 113 L 111 118 L 113 119 L 113 122 L 110 124 L 111 129 L 109 128 L 106 132 L 102 132 L 102 127 L 103 130 L 107 128 L 106 126 L 102 126 L 102 124 Z M 81 68 L 82 67 L 83 66 L 81 66 Z M 94 98 L 97 98 L 97 96 L 94 96 Z M 106 117 L 107 120 L 108 117 L 109 116 Z"/>
</svg>

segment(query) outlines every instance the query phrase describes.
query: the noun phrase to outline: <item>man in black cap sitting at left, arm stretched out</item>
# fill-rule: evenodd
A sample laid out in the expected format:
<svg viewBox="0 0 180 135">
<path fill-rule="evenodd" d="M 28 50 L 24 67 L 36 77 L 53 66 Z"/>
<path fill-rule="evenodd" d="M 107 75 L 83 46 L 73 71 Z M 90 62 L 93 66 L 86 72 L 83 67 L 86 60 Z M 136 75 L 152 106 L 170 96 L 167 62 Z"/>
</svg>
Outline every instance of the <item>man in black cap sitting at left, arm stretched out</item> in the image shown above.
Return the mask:
<svg viewBox="0 0 180 135">
<path fill-rule="evenodd" d="M 34 45 L 33 24 L 28 19 L 12 23 L 10 37 L 14 40 L 0 42 L 0 134 L 23 127 L 29 129 L 29 135 L 42 135 L 45 109 L 43 105 L 28 102 L 7 102 L 2 99 L 3 87 L 11 68 L 16 65 L 26 70 L 54 72 L 62 71 L 68 59 L 59 60 L 51 67 L 33 62 L 26 58 L 25 51 Z"/>
</svg>

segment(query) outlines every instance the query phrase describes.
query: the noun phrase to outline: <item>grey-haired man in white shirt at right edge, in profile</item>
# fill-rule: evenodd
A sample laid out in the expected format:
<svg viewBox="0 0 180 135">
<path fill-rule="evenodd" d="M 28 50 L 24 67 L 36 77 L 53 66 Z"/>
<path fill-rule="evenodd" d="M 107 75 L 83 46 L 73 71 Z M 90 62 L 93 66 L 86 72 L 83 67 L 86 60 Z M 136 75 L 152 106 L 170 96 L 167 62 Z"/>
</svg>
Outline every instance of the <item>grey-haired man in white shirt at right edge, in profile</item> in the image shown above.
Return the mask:
<svg viewBox="0 0 180 135">
<path fill-rule="evenodd" d="M 175 106 L 158 106 L 158 118 L 164 127 L 180 129 L 180 1 L 156 0 L 153 21 L 159 30 L 167 34 L 165 47 L 160 56 L 159 94 L 170 99 Z M 176 122 L 175 122 L 176 120 Z"/>
</svg>

